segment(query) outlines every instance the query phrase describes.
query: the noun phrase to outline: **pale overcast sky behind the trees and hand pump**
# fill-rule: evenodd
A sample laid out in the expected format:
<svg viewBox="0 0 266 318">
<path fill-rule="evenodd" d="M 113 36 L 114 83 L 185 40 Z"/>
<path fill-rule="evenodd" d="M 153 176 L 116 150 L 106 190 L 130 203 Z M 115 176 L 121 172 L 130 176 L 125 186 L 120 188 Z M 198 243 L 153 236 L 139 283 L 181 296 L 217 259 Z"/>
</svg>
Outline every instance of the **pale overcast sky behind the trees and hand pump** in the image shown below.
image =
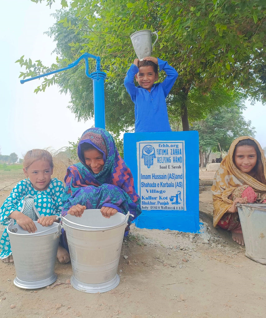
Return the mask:
<svg viewBox="0 0 266 318">
<path fill-rule="evenodd" d="M 46 88 L 45 93 L 33 93 L 40 80 L 23 85 L 18 79 L 21 70 L 15 61 L 22 55 L 32 61 L 40 59 L 44 65 L 55 62 L 51 55 L 56 44 L 43 34 L 55 22 L 50 16 L 59 9 L 59 1 L 50 9 L 45 3 L 30 0 L 13 0 L 1 3 L 1 76 L 0 76 L 0 147 L 2 155 L 16 152 L 22 157 L 33 148 L 51 147 L 58 150 L 76 142 L 87 128 L 94 125 L 90 120 L 78 122 L 67 108 L 69 96 L 59 93 L 57 86 Z M 88 79 L 90 81 L 91 79 Z M 262 147 L 265 140 L 265 108 L 257 103 L 246 103 L 246 119 L 256 128 L 256 139 Z"/>
</svg>

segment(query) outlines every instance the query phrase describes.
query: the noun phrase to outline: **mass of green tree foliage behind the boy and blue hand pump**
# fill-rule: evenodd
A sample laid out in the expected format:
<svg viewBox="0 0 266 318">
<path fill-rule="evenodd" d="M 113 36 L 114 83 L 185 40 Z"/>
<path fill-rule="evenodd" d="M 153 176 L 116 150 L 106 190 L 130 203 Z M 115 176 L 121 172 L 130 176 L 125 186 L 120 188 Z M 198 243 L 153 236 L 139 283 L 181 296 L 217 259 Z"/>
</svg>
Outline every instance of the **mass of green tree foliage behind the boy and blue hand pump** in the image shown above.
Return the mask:
<svg viewBox="0 0 266 318">
<path fill-rule="evenodd" d="M 51 5 L 54 0 L 46 2 Z M 181 117 L 183 128 L 188 129 L 188 120 L 203 119 L 211 110 L 205 99 L 221 86 L 244 92 L 253 101 L 266 100 L 266 3 L 261 0 L 73 0 L 61 4 L 69 5 L 70 10 L 58 11 L 57 24 L 51 28 L 62 57 L 57 59 L 58 68 L 84 52 L 102 57 L 108 76 L 106 126 L 111 131 L 133 126 L 133 105 L 122 82 L 135 58 L 129 36 L 141 29 L 158 32 L 159 42 L 152 54 L 179 70 L 167 100 L 172 125 L 177 123 L 179 128 Z M 24 57 L 18 61 L 26 66 L 23 77 L 55 67 L 45 68 Z M 69 78 L 55 75 L 45 79 L 37 91 L 57 82 L 63 91 L 70 91 L 70 108 L 77 117 L 91 117 L 91 88 L 86 91 L 80 86 L 85 78 L 78 71 L 68 72 L 64 73 Z M 216 98 L 214 105 L 219 104 Z"/>
</svg>

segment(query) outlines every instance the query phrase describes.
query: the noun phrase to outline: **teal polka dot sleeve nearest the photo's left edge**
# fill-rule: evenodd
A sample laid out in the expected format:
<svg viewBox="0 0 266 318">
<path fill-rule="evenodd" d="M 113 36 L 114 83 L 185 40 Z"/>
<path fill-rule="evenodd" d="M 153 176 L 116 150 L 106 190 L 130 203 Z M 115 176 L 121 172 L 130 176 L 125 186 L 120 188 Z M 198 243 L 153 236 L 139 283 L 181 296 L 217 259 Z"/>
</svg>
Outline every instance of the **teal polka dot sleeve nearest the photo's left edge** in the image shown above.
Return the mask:
<svg viewBox="0 0 266 318">
<path fill-rule="evenodd" d="M 6 198 L 5 202 L 0 208 L 0 222 L 3 225 L 6 225 L 5 220 L 9 217 L 9 215 L 17 210 L 17 204 L 21 200 L 21 198 L 27 192 L 27 182 L 26 179 L 17 183 L 17 185 L 13 188 L 10 195 Z"/>
</svg>

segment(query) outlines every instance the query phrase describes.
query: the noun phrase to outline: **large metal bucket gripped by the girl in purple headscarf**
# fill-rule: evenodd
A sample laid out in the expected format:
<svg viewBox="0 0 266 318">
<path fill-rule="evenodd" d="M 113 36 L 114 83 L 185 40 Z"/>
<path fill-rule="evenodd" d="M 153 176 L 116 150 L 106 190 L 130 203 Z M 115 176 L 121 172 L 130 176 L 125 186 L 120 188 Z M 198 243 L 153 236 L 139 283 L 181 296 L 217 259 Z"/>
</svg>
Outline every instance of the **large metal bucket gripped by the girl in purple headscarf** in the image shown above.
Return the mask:
<svg viewBox="0 0 266 318">
<path fill-rule="evenodd" d="M 104 218 L 100 210 L 85 210 L 80 218 L 62 217 L 73 275 L 72 286 L 85 293 L 104 293 L 120 281 L 117 274 L 129 217 L 116 213 Z"/>
</svg>

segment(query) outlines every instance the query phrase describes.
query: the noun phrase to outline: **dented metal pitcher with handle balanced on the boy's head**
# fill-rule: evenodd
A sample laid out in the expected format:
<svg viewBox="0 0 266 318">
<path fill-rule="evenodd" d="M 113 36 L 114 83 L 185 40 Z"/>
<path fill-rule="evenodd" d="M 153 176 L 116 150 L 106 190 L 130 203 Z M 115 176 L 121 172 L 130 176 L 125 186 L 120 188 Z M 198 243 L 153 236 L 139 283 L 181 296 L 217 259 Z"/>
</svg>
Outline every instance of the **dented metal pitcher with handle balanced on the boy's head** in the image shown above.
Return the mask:
<svg viewBox="0 0 266 318">
<path fill-rule="evenodd" d="M 156 35 L 156 40 L 152 44 L 153 35 Z M 151 56 L 153 46 L 158 40 L 158 34 L 150 30 L 141 30 L 131 34 L 130 38 L 138 59 L 142 61 L 146 56 Z"/>
</svg>

